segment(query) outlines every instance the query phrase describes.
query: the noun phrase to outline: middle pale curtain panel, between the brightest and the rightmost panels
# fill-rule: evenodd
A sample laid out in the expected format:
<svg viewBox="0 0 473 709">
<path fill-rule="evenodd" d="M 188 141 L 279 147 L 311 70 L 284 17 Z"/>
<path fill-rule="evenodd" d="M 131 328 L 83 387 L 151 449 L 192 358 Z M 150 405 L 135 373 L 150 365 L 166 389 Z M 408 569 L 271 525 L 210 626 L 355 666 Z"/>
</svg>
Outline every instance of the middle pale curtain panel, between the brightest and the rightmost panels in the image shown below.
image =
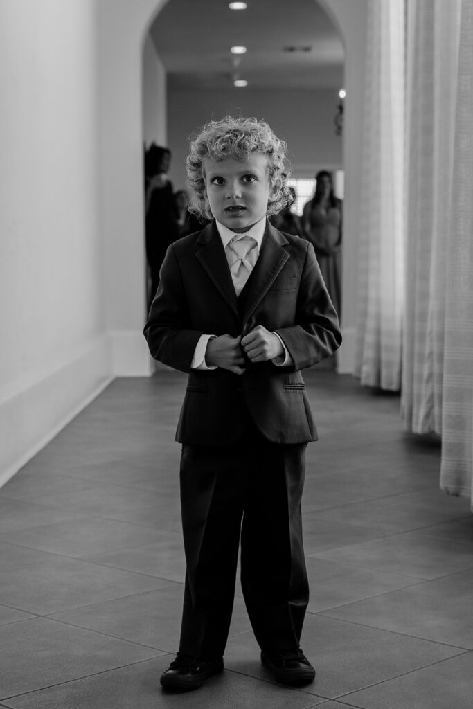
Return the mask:
<svg viewBox="0 0 473 709">
<path fill-rule="evenodd" d="M 460 1 L 408 5 L 406 318 L 401 410 L 408 430 L 442 432 L 445 291 Z"/>
</svg>

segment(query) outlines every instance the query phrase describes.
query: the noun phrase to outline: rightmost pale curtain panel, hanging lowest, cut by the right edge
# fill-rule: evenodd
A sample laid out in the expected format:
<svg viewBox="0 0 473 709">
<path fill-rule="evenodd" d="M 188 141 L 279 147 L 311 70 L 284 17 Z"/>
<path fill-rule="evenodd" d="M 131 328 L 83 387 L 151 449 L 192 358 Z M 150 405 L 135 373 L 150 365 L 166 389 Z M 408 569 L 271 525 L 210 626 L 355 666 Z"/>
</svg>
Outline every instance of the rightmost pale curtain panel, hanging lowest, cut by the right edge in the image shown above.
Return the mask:
<svg viewBox="0 0 473 709">
<path fill-rule="evenodd" d="M 440 487 L 473 497 L 473 4 L 460 9 Z M 451 245 L 450 245 L 451 244 Z"/>
</svg>

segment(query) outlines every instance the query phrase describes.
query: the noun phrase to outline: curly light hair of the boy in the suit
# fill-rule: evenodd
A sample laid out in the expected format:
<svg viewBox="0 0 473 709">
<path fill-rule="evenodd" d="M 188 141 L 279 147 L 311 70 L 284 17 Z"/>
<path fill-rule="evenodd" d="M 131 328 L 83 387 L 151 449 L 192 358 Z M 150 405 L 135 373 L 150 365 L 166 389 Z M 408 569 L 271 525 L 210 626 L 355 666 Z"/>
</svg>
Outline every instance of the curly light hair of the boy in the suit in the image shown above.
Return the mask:
<svg viewBox="0 0 473 709">
<path fill-rule="evenodd" d="M 205 185 L 204 160 L 247 160 L 252 152 L 261 152 L 269 158 L 268 177 L 274 196 L 268 202 L 267 216 L 281 211 L 291 203 L 287 186 L 289 166 L 286 162 L 286 143 L 272 132 L 265 121 L 257 118 L 233 118 L 210 121 L 191 140 L 187 157 L 187 186 L 190 191 L 189 211 L 199 217 L 213 219 Z"/>
</svg>

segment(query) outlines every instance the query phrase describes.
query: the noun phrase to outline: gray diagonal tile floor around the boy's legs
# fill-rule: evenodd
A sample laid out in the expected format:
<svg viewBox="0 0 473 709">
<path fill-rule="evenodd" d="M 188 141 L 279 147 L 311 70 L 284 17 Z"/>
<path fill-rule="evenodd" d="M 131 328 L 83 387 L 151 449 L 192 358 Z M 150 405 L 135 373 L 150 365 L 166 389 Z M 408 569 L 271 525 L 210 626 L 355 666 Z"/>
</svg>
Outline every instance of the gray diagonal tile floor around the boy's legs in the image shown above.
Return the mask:
<svg viewBox="0 0 473 709">
<path fill-rule="evenodd" d="M 116 379 L 0 491 L 0 707 L 471 709 L 473 517 L 438 489 L 440 448 L 399 397 L 306 372 L 320 442 L 304 537 L 313 685 L 270 681 L 237 588 L 226 671 L 162 692 L 184 558 L 184 375 Z"/>
</svg>

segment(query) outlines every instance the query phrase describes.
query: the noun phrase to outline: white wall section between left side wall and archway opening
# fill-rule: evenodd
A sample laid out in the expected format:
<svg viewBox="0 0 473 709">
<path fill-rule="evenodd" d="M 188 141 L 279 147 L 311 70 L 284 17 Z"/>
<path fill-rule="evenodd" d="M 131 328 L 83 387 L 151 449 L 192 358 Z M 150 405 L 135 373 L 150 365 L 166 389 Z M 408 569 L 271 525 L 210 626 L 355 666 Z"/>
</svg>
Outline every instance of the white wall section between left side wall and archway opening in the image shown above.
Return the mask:
<svg viewBox="0 0 473 709">
<path fill-rule="evenodd" d="M 113 372 L 150 374 L 143 218 L 142 51 L 164 0 L 96 0 L 99 13 L 100 225 Z"/>
</svg>

